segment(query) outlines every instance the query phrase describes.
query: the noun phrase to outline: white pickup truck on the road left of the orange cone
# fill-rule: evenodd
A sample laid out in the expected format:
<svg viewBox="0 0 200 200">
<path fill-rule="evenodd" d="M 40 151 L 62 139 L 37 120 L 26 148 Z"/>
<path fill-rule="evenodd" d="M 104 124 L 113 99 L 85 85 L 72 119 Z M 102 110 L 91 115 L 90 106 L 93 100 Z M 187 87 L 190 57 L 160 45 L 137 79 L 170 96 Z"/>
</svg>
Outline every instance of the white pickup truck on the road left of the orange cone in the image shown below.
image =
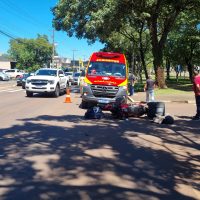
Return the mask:
<svg viewBox="0 0 200 200">
<path fill-rule="evenodd" d="M 25 89 L 27 97 L 33 93 L 51 93 L 58 97 L 67 87 L 67 77 L 61 69 L 41 68 L 34 76 L 26 79 Z"/>
</svg>

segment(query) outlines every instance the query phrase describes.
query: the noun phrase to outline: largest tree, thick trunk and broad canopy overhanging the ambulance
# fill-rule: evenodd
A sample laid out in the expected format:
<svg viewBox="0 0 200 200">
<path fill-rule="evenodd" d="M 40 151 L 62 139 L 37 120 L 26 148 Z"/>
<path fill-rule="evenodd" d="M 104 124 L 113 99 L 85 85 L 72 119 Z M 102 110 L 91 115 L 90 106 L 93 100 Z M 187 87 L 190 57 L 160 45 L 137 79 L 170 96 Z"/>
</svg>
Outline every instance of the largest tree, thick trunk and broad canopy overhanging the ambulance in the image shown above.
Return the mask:
<svg viewBox="0 0 200 200">
<path fill-rule="evenodd" d="M 59 1 L 53 8 L 53 24 L 69 36 L 94 42 L 96 39 L 105 41 L 113 32 L 124 31 L 124 27 L 131 26 L 135 30 L 135 22 L 143 21 L 144 28 L 149 30 L 158 85 L 163 88 L 163 50 L 167 36 L 179 14 L 199 8 L 199 4 L 199 0 Z"/>
</svg>

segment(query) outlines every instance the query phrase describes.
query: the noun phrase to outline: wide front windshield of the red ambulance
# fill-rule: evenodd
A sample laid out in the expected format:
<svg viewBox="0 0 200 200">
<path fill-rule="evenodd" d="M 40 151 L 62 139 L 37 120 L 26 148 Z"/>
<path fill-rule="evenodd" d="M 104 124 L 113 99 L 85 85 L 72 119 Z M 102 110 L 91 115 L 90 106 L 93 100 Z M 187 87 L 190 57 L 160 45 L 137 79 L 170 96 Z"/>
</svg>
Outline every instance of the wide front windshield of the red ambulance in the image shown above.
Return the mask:
<svg viewBox="0 0 200 200">
<path fill-rule="evenodd" d="M 111 62 L 91 62 L 88 71 L 88 75 L 97 76 L 126 76 L 126 67 L 124 64 L 111 63 Z"/>
</svg>

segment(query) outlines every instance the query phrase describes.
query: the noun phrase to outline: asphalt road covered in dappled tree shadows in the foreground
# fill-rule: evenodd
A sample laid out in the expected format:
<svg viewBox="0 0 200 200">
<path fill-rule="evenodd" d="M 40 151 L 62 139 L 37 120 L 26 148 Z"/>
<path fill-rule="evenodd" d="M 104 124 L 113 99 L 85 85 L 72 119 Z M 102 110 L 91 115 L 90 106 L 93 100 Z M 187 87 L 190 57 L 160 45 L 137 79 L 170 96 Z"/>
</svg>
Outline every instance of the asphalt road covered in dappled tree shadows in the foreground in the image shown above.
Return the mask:
<svg viewBox="0 0 200 200">
<path fill-rule="evenodd" d="M 167 103 L 173 125 L 85 120 L 76 92 L 64 103 L 0 82 L 1 200 L 200 199 L 194 104 Z"/>
</svg>

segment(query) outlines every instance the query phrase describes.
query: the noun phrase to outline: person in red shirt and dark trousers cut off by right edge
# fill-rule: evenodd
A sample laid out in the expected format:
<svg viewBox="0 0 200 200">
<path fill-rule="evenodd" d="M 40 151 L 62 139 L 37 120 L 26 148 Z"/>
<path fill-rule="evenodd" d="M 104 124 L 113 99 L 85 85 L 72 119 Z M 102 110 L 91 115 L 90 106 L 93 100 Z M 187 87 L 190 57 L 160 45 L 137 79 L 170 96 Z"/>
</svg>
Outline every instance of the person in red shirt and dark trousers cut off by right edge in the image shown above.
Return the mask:
<svg viewBox="0 0 200 200">
<path fill-rule="evenodd" d="M 200 120 L 200 74 L 198 71 L 194 71 L 193 91 L 195 94 L 197 113 L 192 119 Z"/>
</svg>

